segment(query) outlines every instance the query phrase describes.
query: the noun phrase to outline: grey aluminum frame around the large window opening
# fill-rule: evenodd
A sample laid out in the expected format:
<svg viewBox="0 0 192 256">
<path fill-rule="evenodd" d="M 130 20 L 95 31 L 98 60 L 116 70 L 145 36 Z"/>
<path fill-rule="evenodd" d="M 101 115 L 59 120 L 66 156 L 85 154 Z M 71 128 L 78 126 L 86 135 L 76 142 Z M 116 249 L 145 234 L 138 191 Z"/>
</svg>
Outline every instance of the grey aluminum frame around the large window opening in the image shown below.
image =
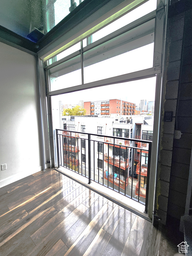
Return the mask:
<svg viewBox="0 0 192 256">
<path fill-rule="evenodd" d="M 166 42 L 166 23 L 167 23 L 167 4 L 166 0 L 157 0 L 157 9 L 140 19 L 128 24 L 126 29 L 134 29 L 134 27 L 137 27 L 142 22 L 146 22 L 150 19 L 155 18 L 155 35 L 154 35 L 154 58 L 153 58 L 153 68 L 145 69 L 145 70 L 139 70 L 132 73 L 127 73 L 124 75 L 116 76 L 116 77 L 110 77 L 107 79 L 103 79 L 100 81 L 94 81 L 87 84 L 81 84 L 78 86 L 68 87 L 56 91 L 49 91 L 49 76 L 48 76 L 48 70 L 52 66 L 56 66 L 60 64 L 62 61 L 67 60 L 71 58 L 72 56 L 67 56 L 64 59 L 59 60 L 58 62 L 55 62 L 49 66 L 43 67 L 43 62 L 39 61 L 40 68 L 45 69 L 45 77 L 46 77 L 46 94 L 47 94 L 47 105 L 48 105 L 48 117 L 49 117 L 49 135 L 50 135 L 50 153 L 51 153 L 51 162 L 52 166 L 56 167 L 57 161 L 56 161 L 56 154 L 54 152 L 54 132 L 52 131 L 52 111 L 51 111 L 51 96 L 54 95 L 60 95 L 65 94 L 69 92 L 79 91 L 79 90 L 86 90 L 89 88 L 95 88 L 100 87 L 104 85 L 110 85 L 110 84 L 117 84 L 117 83 L 123 83 L 123 82 L 129 82 L 129 81 L 135 81 L 145 78 L 150 78 L 156 76 L 156 92 L 155 92 L 155 111 L 154 111 L 154 134 L 153 134 L 153 146 L 152 146 L 152 155 L 151 155 L 151 175 L 149 180 L 149 198 L 148 198 L 148 216 L 149 218 L 153 218 L 153 212 L 154 212 L 154 202 L 155 202 L 155 191 L 156 191 L 156 183 L 157 183 L 157 164 L 158 164 L 158 157 L 159 157 L 159 141 L 160 141 L 160 127 L 161 127 L 161 110 L 162 110 L 162 99 L 163 99 L 163 85 L 165 81 L 164 77 L 164 62 L 165 62 L 165 42 Z M 134 23 L 134 26 L 133 26 Z M 131 27 L 132 26 L 132 27 Z M 120 30 L 125 29 L 125 27 L 121 28 Z M 105 38 L 102 38 L 100 40 L 109 40 L 111 39 L 111 36 L 114 36 L 114 33 L 119 32 L 122 33 L 122 31 L 115 31 L 111 33 L 110 35 L 106 36 Z M 113 35 L 112 35 L 113 34 Z M 99 41 L 99 40 L 98 40 Z M 93 44 L 90 44 L 86 46 L 85 50 L 88 50 L 95 46 L 95 43 L 98 43 L 98 41 L 94 42 Z M 103 43 L 103 41 L 100 43 Z M 79 54 L 79 52 L 78 52 Z M 74 54 L 73 54 L 74 57 Z"/>
</svg>

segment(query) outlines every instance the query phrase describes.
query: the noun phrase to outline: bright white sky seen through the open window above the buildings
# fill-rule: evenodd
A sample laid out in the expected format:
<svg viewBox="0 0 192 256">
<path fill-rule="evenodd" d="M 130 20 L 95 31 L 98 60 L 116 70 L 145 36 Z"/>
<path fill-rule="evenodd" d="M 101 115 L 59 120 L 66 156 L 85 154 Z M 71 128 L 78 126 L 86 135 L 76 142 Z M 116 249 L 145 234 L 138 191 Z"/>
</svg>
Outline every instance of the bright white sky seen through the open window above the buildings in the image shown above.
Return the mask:
<svg viewBox="0 0 192 256">
<path fill-rule="evenodd" d="M 141 99 L 155 100 L 156 77 L 106 85 L 92 89 L 52 96 L 54 101 L 62 104 L 79 104 L 80 100 L 97 101 L 109 99 L 121 99 L 138 105 Z"/>
</svg>

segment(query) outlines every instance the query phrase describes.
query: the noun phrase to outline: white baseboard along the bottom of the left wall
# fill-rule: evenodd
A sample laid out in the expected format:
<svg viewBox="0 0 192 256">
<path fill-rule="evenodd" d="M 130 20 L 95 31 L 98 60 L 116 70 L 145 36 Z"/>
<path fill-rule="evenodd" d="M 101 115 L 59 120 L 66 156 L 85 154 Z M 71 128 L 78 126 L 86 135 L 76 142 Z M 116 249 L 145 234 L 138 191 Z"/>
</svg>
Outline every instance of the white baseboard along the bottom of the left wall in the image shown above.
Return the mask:
<svg viewBox="0 0 192 256">
<path fill-rule="evenodd" d="M 50 167 L 50 164 L 49 164 L 49 163 L 48 163 L 48 164 L 45 164 L 45 168 L 46 168 L 46 169 L 49 168 L 49 167 Z M 13 183 L 13 182 L 15 182 L 15 181 L 18 181 L 18 180 L 20 180 L 20 179 L 23 179 L 23 178 L 25 178 L 25 177 L 27 177 L 27 176 L 30 176 L 30 175 L 32 175 L 32 174 L 34 174 L 34 173 L 36 173 L 36 172 L 42 171 L 42 170 L 43 170 L 43 166 L 40 165 L 40 166 L 38 166 L 37 168 L 34 168 L 34 169 L 33 169 L 32 171 L 30 171 L 30 172 L 23 171 L 23 172 L 16 173 L 16 174 L 14 174 L 14 175 L 12 175 L 12 176 L 7 177 L 7 178 L 4 179 L 4 180 L 1 180 L 1 181 L 0 181 L 0 188 L 6 186 L 6 185 L 8 185 L 8 184 L 11 184 L 11 183 Z"/>
</svg>

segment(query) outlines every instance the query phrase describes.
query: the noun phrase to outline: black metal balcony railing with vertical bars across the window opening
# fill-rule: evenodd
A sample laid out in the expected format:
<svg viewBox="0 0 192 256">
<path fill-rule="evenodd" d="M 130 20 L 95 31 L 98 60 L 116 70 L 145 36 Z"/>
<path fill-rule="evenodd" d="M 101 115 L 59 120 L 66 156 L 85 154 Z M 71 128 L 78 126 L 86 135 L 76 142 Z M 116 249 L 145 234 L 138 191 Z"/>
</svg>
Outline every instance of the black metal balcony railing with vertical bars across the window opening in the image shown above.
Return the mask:
<svg viewBox="0 0 192 256">
<path fill-rule="evenodd" d="M 147 212 L 151 141 L 59 129 L 56 129 L 56 140 L 58 167 L 88 178 L 89 184 L 97 182 L 145 204 Z M 132 146 L 132 142 L 141 146 Z M 144 150 L 148 153 L 147 167 L 140 165 L 142 145 L 146 145 Z M 146 177 L 146 188 L 142 188 L 142 176 Z"/>
</svg>

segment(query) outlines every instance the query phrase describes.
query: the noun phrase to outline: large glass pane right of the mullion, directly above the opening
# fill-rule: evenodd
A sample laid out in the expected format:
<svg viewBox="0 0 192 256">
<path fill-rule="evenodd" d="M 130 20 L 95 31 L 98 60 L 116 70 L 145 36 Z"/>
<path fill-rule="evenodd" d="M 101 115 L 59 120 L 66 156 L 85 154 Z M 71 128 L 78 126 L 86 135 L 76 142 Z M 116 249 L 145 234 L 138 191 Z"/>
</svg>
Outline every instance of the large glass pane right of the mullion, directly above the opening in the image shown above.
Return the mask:
<svg viewBox="0 0 192 256">
<path fill-rule="evenodd" d="M 153 19 L 85 52 L 84 83 L 153 67 L 154 26 Z"/>
</svg>

